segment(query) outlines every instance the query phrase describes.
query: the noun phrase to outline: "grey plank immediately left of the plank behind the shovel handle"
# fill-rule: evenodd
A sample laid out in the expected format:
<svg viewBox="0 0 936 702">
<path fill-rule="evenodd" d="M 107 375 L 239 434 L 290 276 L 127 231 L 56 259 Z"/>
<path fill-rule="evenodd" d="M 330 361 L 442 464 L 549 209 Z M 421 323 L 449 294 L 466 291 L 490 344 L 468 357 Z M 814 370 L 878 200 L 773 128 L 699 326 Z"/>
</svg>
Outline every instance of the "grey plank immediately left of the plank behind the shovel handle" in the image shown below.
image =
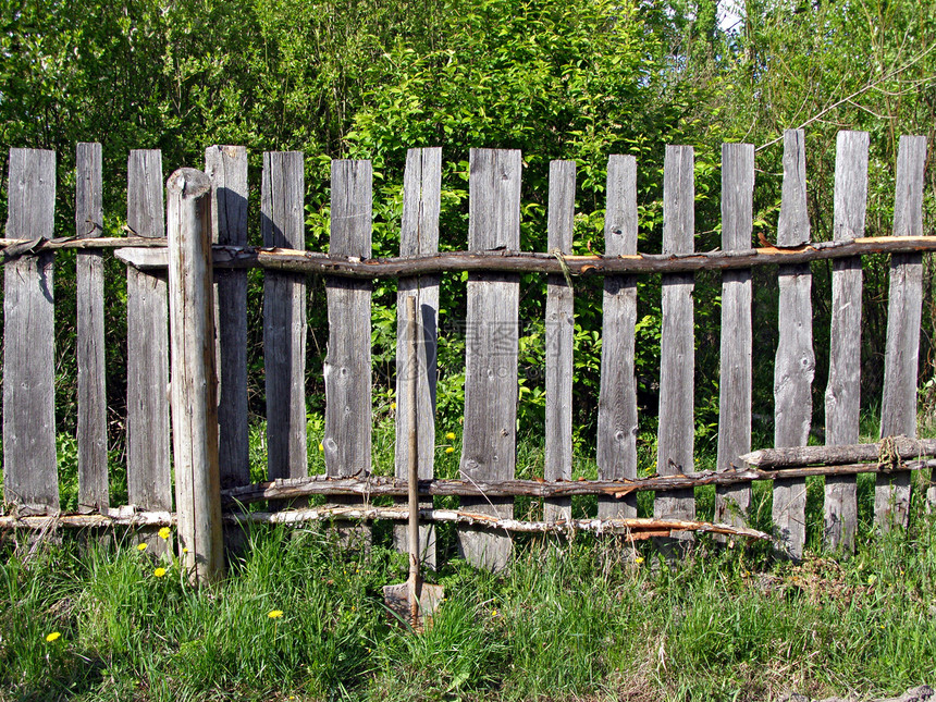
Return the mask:
<svg viewBox="0 0 936 702">
<path fill-rule="evenodd" d="M 370 161 L 332 161 L 329 254 L 370 258 L 373 210 Z M 325 469 L 366 476 L 371 469 L 370 281 L 325 279 Z M 421 441 L 421 440 L 420 440 Z"/>
</svg>

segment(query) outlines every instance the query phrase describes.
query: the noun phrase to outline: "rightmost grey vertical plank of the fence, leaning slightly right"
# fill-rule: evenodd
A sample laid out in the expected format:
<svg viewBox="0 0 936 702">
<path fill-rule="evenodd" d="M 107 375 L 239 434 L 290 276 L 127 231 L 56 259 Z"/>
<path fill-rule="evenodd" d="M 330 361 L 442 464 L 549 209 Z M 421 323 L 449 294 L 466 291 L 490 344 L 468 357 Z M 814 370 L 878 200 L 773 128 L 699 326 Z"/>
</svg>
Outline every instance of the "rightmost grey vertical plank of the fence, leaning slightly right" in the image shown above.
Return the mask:
<svg viewBox="0 0 936 702">
<path fill-rule="evenodd" d="M 923 170 L 926 137 L 901 136 L 897 156 L 894 201 L 895 236 L 923 235 Z M 887 348 L 880 436 L 916 436 L 916 372 L 920 323 L 923 316 L 923 257 L 895 254 L 890 259 L 887 299 Z M 875 521 L 882 529 L 907 525 L 910 473 L 878 476 L 874 496 Z"/>
</svg>

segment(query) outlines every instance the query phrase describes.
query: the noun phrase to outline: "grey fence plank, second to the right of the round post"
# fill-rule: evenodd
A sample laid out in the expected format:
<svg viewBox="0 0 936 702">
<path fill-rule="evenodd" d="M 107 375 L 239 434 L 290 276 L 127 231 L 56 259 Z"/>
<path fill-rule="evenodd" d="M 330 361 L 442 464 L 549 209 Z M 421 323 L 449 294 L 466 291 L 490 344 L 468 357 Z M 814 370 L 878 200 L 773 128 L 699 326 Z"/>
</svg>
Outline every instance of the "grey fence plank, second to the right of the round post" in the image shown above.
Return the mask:
<svg viewBox="0 0 936 702">
<path fill-rule="evenodd" d="M 267 151 L 260 187 L 263 246 L 301 250 L 305 238 L 301 151 Z M 308 475 L 306 440 L 306 278 L 263 276 L 263 364 L 267 380 L 267 475 Z"/>
</svg>

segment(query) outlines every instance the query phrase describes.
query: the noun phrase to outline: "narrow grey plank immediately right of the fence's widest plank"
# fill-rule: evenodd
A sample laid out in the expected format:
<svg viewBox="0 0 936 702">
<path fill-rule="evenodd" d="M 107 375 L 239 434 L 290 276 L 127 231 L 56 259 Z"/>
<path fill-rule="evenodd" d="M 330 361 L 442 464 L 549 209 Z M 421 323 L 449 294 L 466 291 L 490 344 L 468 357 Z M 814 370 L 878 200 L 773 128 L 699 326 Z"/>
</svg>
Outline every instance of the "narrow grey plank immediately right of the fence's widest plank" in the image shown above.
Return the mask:
<svg viewBox="0 0 936 702">
<path fill-rule="evenodd" d="M 572 253 L 576 214 L 576 163 L 550 163 L 549 247 L 551 254 Z M 546 279 L 546 447 L 543 477 L 572 477 L 572 341 L 574 291 L 564 275 Z M 543 519 L 571 519 L 569 500 L 546 500 Z"/>
</svg>

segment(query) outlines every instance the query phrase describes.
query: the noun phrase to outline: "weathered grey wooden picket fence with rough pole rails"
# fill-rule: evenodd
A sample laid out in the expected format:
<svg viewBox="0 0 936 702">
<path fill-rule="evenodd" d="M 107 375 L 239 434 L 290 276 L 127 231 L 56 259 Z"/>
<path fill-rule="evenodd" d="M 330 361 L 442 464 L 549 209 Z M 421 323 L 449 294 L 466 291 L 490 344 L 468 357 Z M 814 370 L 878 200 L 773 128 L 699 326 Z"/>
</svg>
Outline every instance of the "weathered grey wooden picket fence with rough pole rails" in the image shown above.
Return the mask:
<svg viewBox="0 0 936 702">
<path fill-rule="evenodd" d="M 180 533 L 183 543 L 192 546 L 187 563 L 207 568 L 208 577 L 221 567 L 210 553 L 214 549 L 210 543 L 220 530 L 222 489 L 225 519 L 405 518 L 402 507 L 369 503 L 378 494 L 405 494 L 404 438 L 409 432 L 410 401 L 404 392 L 397 393 L 398 479 L 371 476 L 371 284 L 375 278 L 393 276 L 399 279 L 397 382 L 410 373 L 418 378 L 415 416 L 420 492 L 426 501 L 422 514 L 429 521 L 458 521 L 459 545 L 470 562 L 503 567 L 512 549 L 508 530 L 594 528 L 624 531 L 631 538 L 678 535 L 692 529 L 756 534 L 744 525 L 751 481 L 762 479 L 774 484 L 777 543 L 799 557 L 805 539 L 805 477 L 810 475 L 826 476 L 826 543 L 851 550 L 857 525 L 855 473 L 877 473 L 877 521 L 884 527 L 906 524 L 910 469 L 928 466 L 921 459 L 936 454 L 933 442 L 887 439 L 912 439 L 916 430 L 922 256 L 936 250 L 936 237 L 923 236 L 926 143 L 923 137 L 900 140 L 892 237 L 863 236 L 867 148 L 867 134 L 839 134 L 835 239 L 811 243 L 803 133 L 787 132 L 776 246 L 751 248 L 754 149 L 744 144 L 724 145 L 723 244 L 721 251 L 707 254 L 694 253 L 692 148 L 666 148 L 663 253 L 658 255 L 637 250 L 637 163 L 629 156 L 613 156 L 607 169 L 603 256 L 571 255 L 576 169 L 569 161 L 551 165 L 549 251 L 519 251 L 520 153 L 488 149 L 473 149 L 470 155 L 468 250 L 440 254 L 442 155 L 438 148 L 414 149 L 406 163 L 399 258 L 382 260 L 371 259 L 368 161 L 332 163 L 331 241 L 324 255 L 304 250 L 305 185 L 299 152 L 263 155 L 263 247 L 251 248 L 247 246 L 247 152 L 242 147 L 210 147 L 205 173 L 177 171 L 165 190 L 160 152 L 132 151 L 127 168 L 131 236 L 100 238 L 101 148 L 78 145 L 76 235 L 67 239 L 52 239 L 56 155 L 12 149 L 3 330 L 3 475 L 9 514 L 0 517 L 0 526 L 49 521 L 48 516 L 29 515 L 52 515 L 60 524 L 74 525 L 169 524 L 173 519 L 173 461 Z M 213 251 L 209 241 L 214 243 Z M 52 280 L 54 251 L 62 248 L 78 249 L 78 502 L 85 513 L 67 517 L 59 515 L 53 389 Z M 107 470 L 102 255 L 108 249 L 118 249 L 118 257 L 127 263 L 131 506 L 120 509 L 110 509 Z M 861 256 L 872 253 L 891 255 L 880 424 L 885 441 L 859 446 Z M 209 261 L 212 255 L 213 266 Z M 827 447 L 797 449 L 806 444 L 813 414 L 810 261 L 817 259 L 834 260 L 825 395 Z M 761 264 L 779 264 L 778 449 L 749 455 L 751 271 Z M 247 269 L 255 267 L 264 272 L 267 471 L 271 481 L 260 485 L 249 484 L 247 446 Z M 692 294 L 698 270 L 721 270 L 723 276 L 717 470 L 704 473 L 695 472 L 693 464 Z M 461 479 L 445 481 L 433 480 L 435 352 L 440 280 L 454 271 L 468 271 L 465 415 Z M 547 275 L 543 482 L 514 479 L 518 303 L 520 273 L 529 271 Z M 322 442 L 327 476 L 315 477 L 308 477 L 305 391 L 306 285 L 311 273 L 325 275 L 329 315 Z M 658 453 L 656 476 L 638 479 L 637 279 L 650 273 L 662 274 L 663 291 Z M 604 278 L 598 481 L 570 480 L 571 275 Z M 406 319 L 408 297 L 417 299 L 417 320 Z M 422 340 L 415 369 L 406 367 L 404 349 L 406 325 L 414 322 Z M 168 391 L 171 355 L 172 403 Z M 916 461 L 906 463 L 909 459 Z M 199 470 L 207 472 L 201 476 Z M 701 484 L 716 485 L 715 521 L 722 526 L 695 521 L 693 488 Z M 636 518 L 640 490 L 657 491 L 653 519 Z M 279 501 L 312 494 L 329 494 L 332 500 L 322 508 L 233 512 L 235 501 L 274 501 L 282 507 Z M 459 495 L 460 508 L 433 509 L 432 494 Z M 517 494 L 544 500 L 543 524 L 513 519 L 513 496 Z M 598 519 L 574 520 L 572 494 L 598 494 Z M 208 501 L 210 514 L 199 512 L 204 524 L 183 528 L 183 521 L 189 519 L 185 515 L 195 515 L 194 503 L 202 498 Z M 215 534 L 208 539 L 209 545 L 202 545 L 199 534 L 204 533 Z M 430 544 L 431 552 L 431 527 L 424 527 L 424 537 L 422 542 Z M 397 538 L 405 540 L 404 534 Z M 156 539 L 151 543 L 155 549 L 162 545 Z"/>
</svg>

